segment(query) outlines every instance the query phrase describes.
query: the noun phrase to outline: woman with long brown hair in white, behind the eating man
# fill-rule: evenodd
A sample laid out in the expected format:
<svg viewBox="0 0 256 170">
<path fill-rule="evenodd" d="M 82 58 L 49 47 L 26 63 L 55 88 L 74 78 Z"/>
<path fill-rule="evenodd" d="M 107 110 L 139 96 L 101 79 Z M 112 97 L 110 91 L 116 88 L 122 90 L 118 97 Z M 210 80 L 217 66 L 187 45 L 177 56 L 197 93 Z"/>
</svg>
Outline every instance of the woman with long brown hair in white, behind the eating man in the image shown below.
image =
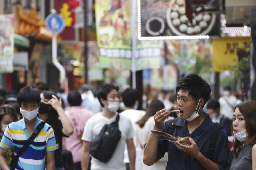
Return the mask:
<svg viewBox="0 0 256 170">
<path fill-rule="evenodd" d="M 155 125 L 154 115 L 156 114 L 157 111 L 162 110 L 163 108 L 164 103 L 162 101 L 158 99 L 153 99 L 151 103 L 148 105 L 146 114 L 137 122 L 138 127 L 136 128 L 136 145 L 140 145 L 142 149 L 144 148 L 143 145 L 148 142 L 148 139 L 151 134 L 151 129 L 153 129 Z M 167 154 L 152 166 L 146 166 L 145 164 L 142 164 L 142 170 L 161 170 L 165 169 L 166 165 Z"/>
</svg>

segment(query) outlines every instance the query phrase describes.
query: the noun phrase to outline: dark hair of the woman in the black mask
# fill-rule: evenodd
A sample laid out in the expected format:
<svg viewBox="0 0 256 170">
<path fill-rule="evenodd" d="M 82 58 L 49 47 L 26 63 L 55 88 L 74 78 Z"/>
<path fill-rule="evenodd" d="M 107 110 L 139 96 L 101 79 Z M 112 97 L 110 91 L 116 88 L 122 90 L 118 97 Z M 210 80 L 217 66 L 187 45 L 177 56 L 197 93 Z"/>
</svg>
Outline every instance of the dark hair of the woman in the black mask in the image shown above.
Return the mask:
<svg viewBox="0 0 256 170">
<path fill-rule="evenodd" d="M 59 100 L 59 97 L 54 92 L 43 91 L 42 94 L 45 99 L 50 100 L 50 99 L 52 99 L 52 95 L 54 95 Z M 49 117 L 45 122 L 48 123 L 50 126 L 52 126 L 53 131 L 55 131 L 57 128 L 58 118 L 59 118 L 59 115 L 58 115 L 57 111 L 53 107 L 51 107 Z"/>
</svg>

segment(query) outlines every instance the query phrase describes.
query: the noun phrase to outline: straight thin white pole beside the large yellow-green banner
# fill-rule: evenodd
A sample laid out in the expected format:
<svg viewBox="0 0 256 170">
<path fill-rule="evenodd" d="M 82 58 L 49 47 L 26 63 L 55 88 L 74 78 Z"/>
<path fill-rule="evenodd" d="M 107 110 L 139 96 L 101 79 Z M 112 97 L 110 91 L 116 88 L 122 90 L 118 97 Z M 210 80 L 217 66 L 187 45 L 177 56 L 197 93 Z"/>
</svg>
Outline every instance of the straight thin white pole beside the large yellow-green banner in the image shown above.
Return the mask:
<svg viewBox="0 0 256 170">
<path fill-rule="evenodd" d="M 132 30 L 135 30 L 136 22 L 136 0 L 132 0 Z M 136 65 L 135 65 L 135 54 L 136 54 L 136 35 L 132 31 L 132 88 L 136 89 Z"/>
</svg>

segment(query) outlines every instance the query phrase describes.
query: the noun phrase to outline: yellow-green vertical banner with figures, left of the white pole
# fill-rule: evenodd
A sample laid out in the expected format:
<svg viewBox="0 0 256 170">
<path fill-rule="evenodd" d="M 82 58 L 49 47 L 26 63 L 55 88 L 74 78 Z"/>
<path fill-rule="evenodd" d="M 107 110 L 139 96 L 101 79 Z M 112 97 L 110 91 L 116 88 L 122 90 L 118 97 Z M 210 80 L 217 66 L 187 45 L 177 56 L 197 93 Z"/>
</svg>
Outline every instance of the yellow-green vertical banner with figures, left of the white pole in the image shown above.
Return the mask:
<svg viewBox="0 0 256 170">
<path fill-rule="evenodd" d="M 100 66 L 126 70 L 131 68 L 130 0 L 96 0 L 97 41 Z"/>
</svg>

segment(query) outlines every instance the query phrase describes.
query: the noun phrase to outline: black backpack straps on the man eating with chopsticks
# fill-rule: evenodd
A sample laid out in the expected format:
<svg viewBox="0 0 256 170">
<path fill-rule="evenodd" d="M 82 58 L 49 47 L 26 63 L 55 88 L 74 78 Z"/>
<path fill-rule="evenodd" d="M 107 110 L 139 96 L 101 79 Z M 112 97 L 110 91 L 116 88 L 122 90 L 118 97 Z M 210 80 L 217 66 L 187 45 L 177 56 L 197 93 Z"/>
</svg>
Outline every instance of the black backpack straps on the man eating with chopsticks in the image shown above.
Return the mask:
<svg viewBox="0 0 256 170">
<path fill-rule="evenodd" d="M 168 133 L 172 135 L 174 129 L 176 128 L 175 124 L 178 122 L 180 117 L 175 118 L 169 126 Z M 215 146 L 216 139 L 218 138 L 219 131 L 222 127 L 219 123 L 214 123 L 211 130 L 210 130 L 210 148 L 209 148 L 209 155 L 212 158 L 212 152 Z"/>
</svg>

